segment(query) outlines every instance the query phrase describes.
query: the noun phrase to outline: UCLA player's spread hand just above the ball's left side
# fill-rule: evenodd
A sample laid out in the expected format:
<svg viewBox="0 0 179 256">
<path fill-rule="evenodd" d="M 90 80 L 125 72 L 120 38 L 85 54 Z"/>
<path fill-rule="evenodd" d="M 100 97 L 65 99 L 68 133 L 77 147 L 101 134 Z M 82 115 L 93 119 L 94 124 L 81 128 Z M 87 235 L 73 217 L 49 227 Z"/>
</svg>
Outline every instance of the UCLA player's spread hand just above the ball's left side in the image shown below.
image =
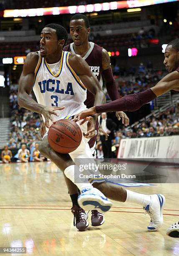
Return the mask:
<svg viewBox="0 0 179 256">
<path fill-rule="evenodd" d="M 51 117 L 51 115 L 56 115 L 58 116 L 58 113 L 56 113 L 56 110 L 63 110 L 65 107 L 44 107 L 41 110 L 41 114 L 44 116 L 45 118 L 45 126 L 47 128 L 50 128 L 50 121 L 53 123 L 55 122 L 55 120 L 53 120 L 53 118 Z"/>
</svg>

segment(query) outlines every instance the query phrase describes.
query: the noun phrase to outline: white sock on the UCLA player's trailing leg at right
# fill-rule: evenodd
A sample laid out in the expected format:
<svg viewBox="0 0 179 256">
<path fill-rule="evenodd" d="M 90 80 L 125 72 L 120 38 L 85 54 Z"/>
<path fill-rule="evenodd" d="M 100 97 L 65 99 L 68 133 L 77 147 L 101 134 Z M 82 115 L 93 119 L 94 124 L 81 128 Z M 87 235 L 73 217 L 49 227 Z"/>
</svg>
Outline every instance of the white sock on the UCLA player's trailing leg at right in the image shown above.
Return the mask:
<svg viewBox="0 0 179 256">
<path fill-rule="evenodd" d="M 139 194 L 131 190 L 126 189 L 127 197 L 125 202 L 130 202 L 132 204 L 141 205 L 146 207 L 151 202 L 151 197 L 149 195 Z"/>
</svg>

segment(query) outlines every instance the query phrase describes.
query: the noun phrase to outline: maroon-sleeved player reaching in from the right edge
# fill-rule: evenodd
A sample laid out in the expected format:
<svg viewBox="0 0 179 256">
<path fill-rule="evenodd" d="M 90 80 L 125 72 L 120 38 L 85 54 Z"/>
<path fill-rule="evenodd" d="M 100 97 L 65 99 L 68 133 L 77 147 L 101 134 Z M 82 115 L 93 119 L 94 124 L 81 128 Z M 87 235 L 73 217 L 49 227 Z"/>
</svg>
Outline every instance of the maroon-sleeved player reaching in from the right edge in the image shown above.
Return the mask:
<svg viewBox="0 0 179 256">
<path fill-rule="evenodd" d="M 113 102 L 82 111 L 76 115 L 73 120 L 80 120 L 95 113 L 117 110 L 135 111 L 165 92 L 169 92 L 170 90 L 179 91 L 179 38 L 171 41 L 166 46 L 164 57 L 164 65 L 169 74 L 163 77 L 154 87 L 151 87 L 144 92 L 126 95 Z"/>
</svg>

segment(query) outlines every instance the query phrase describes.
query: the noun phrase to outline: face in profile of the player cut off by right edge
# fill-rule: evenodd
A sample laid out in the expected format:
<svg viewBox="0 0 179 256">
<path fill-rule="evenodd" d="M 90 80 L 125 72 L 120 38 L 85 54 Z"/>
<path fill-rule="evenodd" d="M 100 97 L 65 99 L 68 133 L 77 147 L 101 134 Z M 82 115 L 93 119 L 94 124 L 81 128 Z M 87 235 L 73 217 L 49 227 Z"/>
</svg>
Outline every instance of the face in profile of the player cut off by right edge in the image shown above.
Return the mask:
<svg viewBox="0 0 179 256">
<path fill-rule="evenodd" d="M 179 52 L 176 51 L 171 45 L 166 46 L 165 49 L 164 65 L 166 70 L 171 73 L 179 67 Z"/>
</svg>

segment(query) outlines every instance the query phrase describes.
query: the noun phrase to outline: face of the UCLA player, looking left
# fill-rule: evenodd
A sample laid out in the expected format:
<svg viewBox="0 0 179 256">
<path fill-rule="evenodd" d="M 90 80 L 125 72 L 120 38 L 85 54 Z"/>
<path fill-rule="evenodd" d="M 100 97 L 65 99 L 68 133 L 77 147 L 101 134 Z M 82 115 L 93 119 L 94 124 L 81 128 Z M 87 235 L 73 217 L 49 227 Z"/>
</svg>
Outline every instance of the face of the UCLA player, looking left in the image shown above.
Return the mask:
<svg viewBox="0 0 179 256">
<path fill-rule="evenodd" d="M 58 50 L 58 38 L 56 30 L 53 28 L 43 28 L 40 35 L 40 55 L 46 57 L 49 54 L 55 54 Z"/>
</svg>

